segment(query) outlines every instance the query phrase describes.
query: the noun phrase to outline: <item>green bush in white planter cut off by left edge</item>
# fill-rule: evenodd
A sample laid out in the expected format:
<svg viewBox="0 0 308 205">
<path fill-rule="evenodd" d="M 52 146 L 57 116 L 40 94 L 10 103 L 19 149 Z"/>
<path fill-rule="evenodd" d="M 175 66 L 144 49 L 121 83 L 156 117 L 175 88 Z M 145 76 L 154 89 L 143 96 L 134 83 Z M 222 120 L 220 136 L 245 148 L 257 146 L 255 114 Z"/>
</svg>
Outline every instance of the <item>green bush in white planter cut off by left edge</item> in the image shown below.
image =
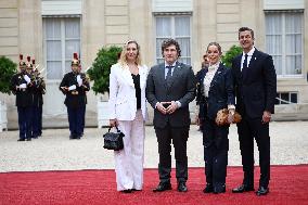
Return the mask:
<svg viewBox="0 0 308 205">
<path fill-rule="evenodd" d="M 17 65 L 5 56 L 0 57 L 0 92 L 11 94 L 11 78 L 16 74 Z M 7 104 L 4 100 L 0 100 L 0 131 L 8 129 Z"/>
</svg>

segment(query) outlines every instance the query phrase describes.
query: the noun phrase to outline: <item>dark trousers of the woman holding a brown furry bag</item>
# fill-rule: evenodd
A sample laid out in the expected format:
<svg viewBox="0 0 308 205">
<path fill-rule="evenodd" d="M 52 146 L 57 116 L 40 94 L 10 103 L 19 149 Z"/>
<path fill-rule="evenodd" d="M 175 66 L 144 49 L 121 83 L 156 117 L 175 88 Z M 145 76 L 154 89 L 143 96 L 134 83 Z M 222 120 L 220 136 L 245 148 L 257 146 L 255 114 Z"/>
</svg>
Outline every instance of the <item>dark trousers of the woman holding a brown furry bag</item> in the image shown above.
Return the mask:
<svg viewBox="0 0 308 205">
<path fill-rule="evenodd" d="M 203 144 L 206 183 L 217 191 L 226 187 L 229 126 L 217 126 L 208 118 L 204 121 Z"/>
</svg>

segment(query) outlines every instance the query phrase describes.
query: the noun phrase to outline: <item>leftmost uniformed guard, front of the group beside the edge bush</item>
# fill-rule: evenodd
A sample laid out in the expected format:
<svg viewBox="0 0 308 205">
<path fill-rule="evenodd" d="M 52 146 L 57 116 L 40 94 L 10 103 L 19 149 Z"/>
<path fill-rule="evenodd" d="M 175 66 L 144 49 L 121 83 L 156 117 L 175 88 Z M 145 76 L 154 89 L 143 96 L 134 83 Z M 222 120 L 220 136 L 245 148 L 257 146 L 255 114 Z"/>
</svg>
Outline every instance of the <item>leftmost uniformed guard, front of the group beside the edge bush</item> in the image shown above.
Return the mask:
<svg viewBox="0 0 308 205">
<path fill-rule="evenodd" d="M 11 79 L 11 90 L 16 95 L 16 106 L 18 113 L 20 139 L 18 141 L 31 140 L 31 106 L 33 106 L 33 81 L 26 68 L 30 65 L 23 61 L 20 54 L 20 73 Z"/>
</svg>

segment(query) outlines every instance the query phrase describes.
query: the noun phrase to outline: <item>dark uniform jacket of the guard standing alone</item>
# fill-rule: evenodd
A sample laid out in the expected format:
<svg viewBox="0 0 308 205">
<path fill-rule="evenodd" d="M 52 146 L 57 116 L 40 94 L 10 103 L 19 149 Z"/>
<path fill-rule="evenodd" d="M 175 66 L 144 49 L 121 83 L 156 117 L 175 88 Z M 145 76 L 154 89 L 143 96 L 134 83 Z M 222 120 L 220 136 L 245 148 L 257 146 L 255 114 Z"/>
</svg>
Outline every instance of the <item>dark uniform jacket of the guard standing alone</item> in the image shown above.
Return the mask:
<svg viewBox="0 0 308 205">
<path fill-rule="evenodd" d="M 61 87 L 69 87 L 69 86 L 76 86 L 76 90 L 78 91 L 78 94 L 73 94 L 72 91 L 64 92 Z M 90 85 L 85 84 L 85 86 L 78 86 L 76 75 L 73 72 L 69 72 L 65 74 L 63 77 L 59 89 L 66 95 L 64 104 L 68 107 L 81 107 L 85 106 L 87 103 L 87 98 L 85 92 L 90 90 Z"/>
</svg>

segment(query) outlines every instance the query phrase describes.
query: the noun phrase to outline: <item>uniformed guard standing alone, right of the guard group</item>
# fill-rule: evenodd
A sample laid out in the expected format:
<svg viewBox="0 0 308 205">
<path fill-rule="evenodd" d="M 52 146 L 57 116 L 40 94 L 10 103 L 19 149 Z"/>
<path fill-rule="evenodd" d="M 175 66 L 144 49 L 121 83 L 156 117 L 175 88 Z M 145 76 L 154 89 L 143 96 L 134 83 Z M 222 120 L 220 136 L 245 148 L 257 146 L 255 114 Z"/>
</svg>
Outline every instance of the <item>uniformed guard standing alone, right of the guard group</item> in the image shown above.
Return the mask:
<svg viewBox="0 0 308 205">
<path fill-rule="evenodd" d="M 66 95 L 64 104 L 67 107 L 69 123 L 69 139 L 80 139 L 84 130 L 84 115 L 87 103 L 86 92 L 90 90 L 89 80 L 80 73 L 80 61 L 77 53 L 72 60 L 72 72 L 65 74 L 60 90 Z M 84 124 L 84 125 L 82 125 Z"/>
</svg>

